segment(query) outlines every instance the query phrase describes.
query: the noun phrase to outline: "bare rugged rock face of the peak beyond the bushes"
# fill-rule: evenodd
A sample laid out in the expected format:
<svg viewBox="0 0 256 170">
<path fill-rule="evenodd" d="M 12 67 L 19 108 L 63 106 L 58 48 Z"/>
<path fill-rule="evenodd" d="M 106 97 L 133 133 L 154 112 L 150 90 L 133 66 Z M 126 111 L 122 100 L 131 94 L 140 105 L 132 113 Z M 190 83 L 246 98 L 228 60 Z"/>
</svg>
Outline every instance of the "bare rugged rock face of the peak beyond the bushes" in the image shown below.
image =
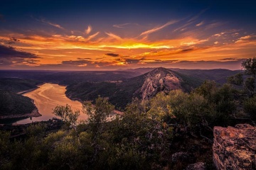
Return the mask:
<svg viewBox="0 0 256 170">
<path fill-rule="evenodd" d="M 159 91 L 169 92 L 171 90 L 182 89 L 181 77 L 174 75 L 169 69 L 162 67 L 154 69 L 146 74 L 146 78 L 140 92 L 142 100 L 155 96 Z"/>
</svg>

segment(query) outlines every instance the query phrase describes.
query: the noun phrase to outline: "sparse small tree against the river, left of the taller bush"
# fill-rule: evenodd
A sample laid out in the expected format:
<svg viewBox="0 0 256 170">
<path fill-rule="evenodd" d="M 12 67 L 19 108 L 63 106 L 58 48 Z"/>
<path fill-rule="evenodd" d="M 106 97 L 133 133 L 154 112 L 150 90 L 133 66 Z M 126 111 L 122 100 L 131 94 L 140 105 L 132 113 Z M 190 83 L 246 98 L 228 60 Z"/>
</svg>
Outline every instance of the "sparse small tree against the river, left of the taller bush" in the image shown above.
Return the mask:
<svg viewBox="0 0 256 170">
<path fill-rule="evenodd" d="M 68 104 L 65 106 L 56 106 L 53 109 L 53 114 L 59 116 L 70 128 L 75 128 L 78 125 L 80 111 L 73 112 L 71 106 Z"/>
</svg>

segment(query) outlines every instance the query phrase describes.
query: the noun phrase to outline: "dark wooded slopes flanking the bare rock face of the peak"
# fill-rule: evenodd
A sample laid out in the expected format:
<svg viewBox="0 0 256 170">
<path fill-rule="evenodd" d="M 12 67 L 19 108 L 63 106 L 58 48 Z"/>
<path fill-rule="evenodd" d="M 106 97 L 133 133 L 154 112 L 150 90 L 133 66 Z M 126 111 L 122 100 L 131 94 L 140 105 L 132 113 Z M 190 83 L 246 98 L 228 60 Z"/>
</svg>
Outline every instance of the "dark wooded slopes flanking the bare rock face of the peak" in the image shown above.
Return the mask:
<svg viewBox="0 0 256 170">
<path fill-rule="evenodd" d="M 123 110 L 128 103 L 132 102 L 132 98 L 142 98 L 139 90 L 142 88 L 146 77 L 150 76 L 149 74 L 155 74 L 156 71 L 154 70 L 122 82 L 103 81 L 92 83 L 87 81 L 71 84 L 67 87 L 65 94 L 71 98 L 79 99 L 80 101 L 95 101 L 95 98 L 100 95 L 102 97 L 109 98 L 110 103 Z M 203 82 L 200 79 L 193 79 L 185 74 L 172 72 L 171 70 L 165 68 L 161 68 L 161 72 L 165 74 L 175 74 L 177 77 L 179 77 L 181 79 L 181 87 L 183 88 L 183 91 L 186 92 L 200 86 L 200 84 Z"/>
</svg>

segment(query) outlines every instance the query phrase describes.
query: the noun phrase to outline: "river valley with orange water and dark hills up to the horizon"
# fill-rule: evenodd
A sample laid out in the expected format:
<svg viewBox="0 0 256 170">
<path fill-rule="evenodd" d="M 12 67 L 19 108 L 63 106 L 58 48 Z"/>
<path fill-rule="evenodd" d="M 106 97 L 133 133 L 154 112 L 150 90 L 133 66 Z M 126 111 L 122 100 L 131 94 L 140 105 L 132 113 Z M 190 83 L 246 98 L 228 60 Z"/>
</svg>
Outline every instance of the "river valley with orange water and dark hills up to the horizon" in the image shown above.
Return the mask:
<svg viewBox="0 0 256 170">
<path fill-rule="evenodd" d="M 175 89 L 190 92 L 200 86 L 206 79 L 215 80 L 223 84 L 228 76 L 236 72 L 223 69 L 186 70 L 165 69 L 163 67 L 128 69 L 114 72 L 18 72 L 0 70 L 0 89 L 12 91 L 17 95 L 25 92 L 23 96 L 31 98 L 36 104 L 39 113 L 43 116 L 26 118 L 28 115 L 13 116 L 12 113 L 8 115 L 4 110 L 0 113 L 1 115 L 5 114 L 5 117 L 2 118 L 26 118 L 18 120 L 18 122 L 16 120 L 6 122 L 23 124 L 49 120 L 53 118 L 52 110 L 55 106 L 68 103 L 74 106 L 75 110 L 81 110 L 82 106 L 78 101 L 94 102 L 99 95 L 109 98 L 110 103 L 117 110 L 124 111 L 125 106 L 131 103 L 134 98 L 148 100 L 156 96 L 160 91 L 168 94 L 169 91 Z M 44 82 L 48 83 L 44 84 Z M 51 83 L 55 83 L 55 85 Z M 61 84 L 64 86 L 61 86 Z M 19 98 L 23 98 L 23 96 Z M 27 114 L 27 111 L 19 110 Z M 31 116 L 33 117 L 33 114 Z M 80 114 L 80 117 L 81 119 L 86 118 L 83 113 Z"/>
</svg>

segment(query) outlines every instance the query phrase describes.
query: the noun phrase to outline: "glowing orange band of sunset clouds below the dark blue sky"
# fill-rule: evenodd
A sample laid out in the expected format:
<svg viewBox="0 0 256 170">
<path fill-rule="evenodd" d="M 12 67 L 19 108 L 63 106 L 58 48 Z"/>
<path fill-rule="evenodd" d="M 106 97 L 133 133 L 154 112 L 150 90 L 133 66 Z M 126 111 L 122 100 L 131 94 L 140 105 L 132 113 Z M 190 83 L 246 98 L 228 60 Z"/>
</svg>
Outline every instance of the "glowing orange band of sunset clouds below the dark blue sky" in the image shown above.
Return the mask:
<svg viewBox="0 0 256 170">
<path fill-rule="evenodd" d="M 207 11 L 205 8 L 187 17 L 169 18 L 164 22 L 102 26 L 85 22 L 82 27 L 64 24 L 63 19 L 53 22 L 28 17 L 31 26 L 26 28 L 15 30 L 0 26 L 0 45 L 2 51 L 6 51 L 0 52 L 0 68 L 240 69 L 242 60 L 255 57 L 255 33 L 221 18 L 204 18 Z M 0 20 L 0 23 L 4 22 Z"/>
</svg>

